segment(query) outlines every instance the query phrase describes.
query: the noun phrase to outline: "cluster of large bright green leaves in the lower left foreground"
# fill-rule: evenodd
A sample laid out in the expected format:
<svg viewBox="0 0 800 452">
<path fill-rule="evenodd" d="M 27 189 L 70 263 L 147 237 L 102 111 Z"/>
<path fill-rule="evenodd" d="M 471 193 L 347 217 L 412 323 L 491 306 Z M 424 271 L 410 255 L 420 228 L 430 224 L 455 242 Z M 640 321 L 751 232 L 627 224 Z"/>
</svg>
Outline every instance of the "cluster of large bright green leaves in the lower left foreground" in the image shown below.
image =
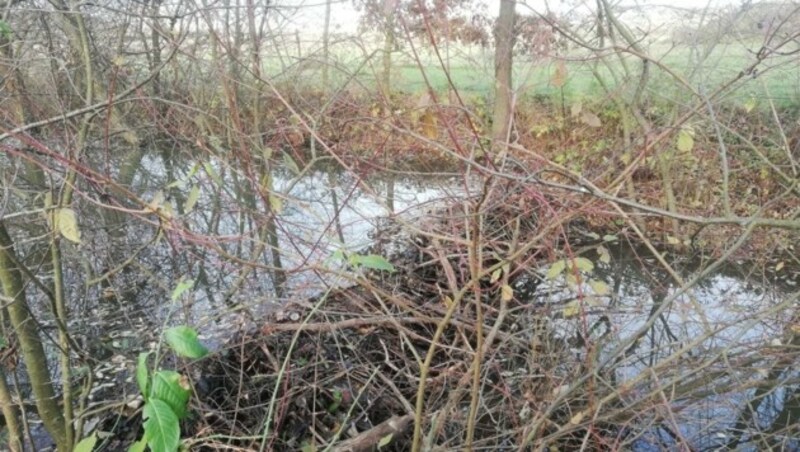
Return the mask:
<svg viewBox="0 0 800 452">
<path fill-rule="evenodd" d="M 208 353 L 197 339 L 197 332 L 187 326 L 172 327 L 164 337 L 179 356 L 202 358 Z M 190 386 L 186 377 L 172 370 L 156 370 L 151 375 L 147 366 L 149 356 L 150 353 L 141 353 L 136 366 L 136 383 L 145 400 L 144 436 L 131 445 L 129 452 L 143 451 L 145 445 L 152 452 L 174 452 L 180 445 L 180 420 L 187 414 Z"/>
</svg>

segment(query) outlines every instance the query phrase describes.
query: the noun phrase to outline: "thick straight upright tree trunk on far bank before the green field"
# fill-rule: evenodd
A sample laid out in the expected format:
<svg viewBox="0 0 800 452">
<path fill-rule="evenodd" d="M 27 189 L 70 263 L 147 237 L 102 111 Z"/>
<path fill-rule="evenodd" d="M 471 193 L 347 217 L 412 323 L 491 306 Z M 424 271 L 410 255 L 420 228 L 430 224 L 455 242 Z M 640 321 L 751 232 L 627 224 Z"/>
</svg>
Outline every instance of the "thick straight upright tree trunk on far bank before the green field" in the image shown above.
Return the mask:
<svg viewBox="0 0 800 452">
<path fill-rule="evenodd" d="M 514 0 L 500 0 L 500 16 L 495 29 L 494 113 L 492 143 L 496 153 L 504 153 L 511 127 L 511 72 L 514 48 Z"/>
</svg>

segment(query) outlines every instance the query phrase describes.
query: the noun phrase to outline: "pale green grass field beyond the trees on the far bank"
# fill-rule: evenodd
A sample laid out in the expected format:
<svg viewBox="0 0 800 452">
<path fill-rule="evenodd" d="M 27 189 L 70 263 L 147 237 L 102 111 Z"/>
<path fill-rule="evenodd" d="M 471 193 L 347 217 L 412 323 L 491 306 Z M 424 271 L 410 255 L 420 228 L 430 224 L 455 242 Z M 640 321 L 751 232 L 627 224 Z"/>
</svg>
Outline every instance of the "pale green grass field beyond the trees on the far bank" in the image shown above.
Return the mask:
<svg viewBox="0 0 800 452">
<path fill-rule="evenodd" d="M 669 68 L 683 77 L 695 89 L 704 93 L 713 93 L 722 84 L 727 83 L 746 69 L 755 59 L 758 43 L 744 45 L 741 43 L 718 44 L 700 61 L 698 56 L 703 49 L 693 50 L 688 46 L 671 46 L 653 44 L 648 52 L 659 64 Z M 350 73 L 360 68 L 356 77 L 358 83 L 370 89 L 375 86 L 381 70 L 380 53 L 376 53 L 369 64 L 363 64 L 360 50 L 339 47 L 334 52 L 339 67 L 344 70 L 331 70 L 333 84 L 343 84 Z M 392 80 L 398 92 L 416 94 L 424 92 L 426 80 L 437 92 L 446 91 L 450 82 L 466 97 L 491 97 L 494 86 L 494 62 L 491 49 L 466 48 L 453 46 L 450 49 L 446 71 L 435 55 L 427 49 L 418 49 L 421 62 L 416 62 L 407 49 L 393 55 Z M 444 49 L 440 49 L 442 54 Z M 593 73 L 596 62 L 586 52 L 573 51 L 565 58 L 566 79 L 563 86 L 553 83 L 553 74 L 557 60 L 553 58 L 532 61 L 530 57 L 517 56 L 514 70 L 514 82 L 518 96 L 531 96 L 552 99 L 560 102 L 563 99 L 570 103 L 576 100 L 584 102 L 600 102 L 607 98 L 607 93 Z M 289 58 L 290 62 L 297 58 Z M 630 93 L 638 83 L 641 61 L 633 56 L 625 56 L 630 75 L 624 78 L 623 63 L 611 55 L 607 57 L 608 65 L 597 64 L 597 71 L 605 86 L 610 90 L 623 90 Z M 284 64 L 286 63 L 284 59 Z M 281 70 L 277 60 L 269 64 L 268 73 L 278 74 Z M 747 77 L 738 82 L 733 89 L 725 93 L 724 99 L 738 105 L 752 103 L 756 99 L 757 108 L 769 108 L 772 100 L 776 107 L 786 108 L 800 104 L 800 62 L 796 58 L 771 58 L 764 62 L 757 77 Z M 614 76 L 613 74 L 616 74 Z M 302 77 L 289 72 L 286 77 L 298 83 L 315 86 L 321 80 L 319 65 L 303 69 Z M 352 83 L 352 81 L 351 81 Z M 655 103 L 682 103 L 692 100 L 689 90 L 677 82 L 668 72 L 652 66 L 651 79 L 648 84 L 649 96 Z"/>
</svg>

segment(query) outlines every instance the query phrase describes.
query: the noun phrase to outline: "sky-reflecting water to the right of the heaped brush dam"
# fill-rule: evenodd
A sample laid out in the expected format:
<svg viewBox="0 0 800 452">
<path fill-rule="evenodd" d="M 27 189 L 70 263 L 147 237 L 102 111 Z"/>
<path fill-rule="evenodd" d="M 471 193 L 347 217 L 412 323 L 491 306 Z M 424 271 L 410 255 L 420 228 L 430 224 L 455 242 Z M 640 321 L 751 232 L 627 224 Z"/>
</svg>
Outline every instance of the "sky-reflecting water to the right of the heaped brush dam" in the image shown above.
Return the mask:
<svg viewBox="0 0 800 452">
<path fill-rule="evenodd" d="M 731 265 L 678 296 L 645 336 L 612 356 L 680 290 L 630 248 L 613 248 L 612 260 L 595 260 L 586 275 L 587 281 L 604 281 L 610 293 L 598 295 L 590 283 L 577 290 L 555 280 L 535 299 L 552 307 L 556 317 L 583 300 L 585 315 L 560 318 L 556 328 L 569 338 L 591 338 L 599 349 L 598 374 L 614 387 L 632 385 L 625 394 L 631 415 L 641 410 L 635 413 L 638 422 L 649 418 L 652 425 L 634 450 L 800 447 L 795 359 L 800 341 L 785 327 L 796 323 L 794 296 L 766 281 L 756 283 Z M 690 267 L 687 275 L 696 270 Z M 607 327 L 607 334 L 596 332 Z"/>
</svg>

